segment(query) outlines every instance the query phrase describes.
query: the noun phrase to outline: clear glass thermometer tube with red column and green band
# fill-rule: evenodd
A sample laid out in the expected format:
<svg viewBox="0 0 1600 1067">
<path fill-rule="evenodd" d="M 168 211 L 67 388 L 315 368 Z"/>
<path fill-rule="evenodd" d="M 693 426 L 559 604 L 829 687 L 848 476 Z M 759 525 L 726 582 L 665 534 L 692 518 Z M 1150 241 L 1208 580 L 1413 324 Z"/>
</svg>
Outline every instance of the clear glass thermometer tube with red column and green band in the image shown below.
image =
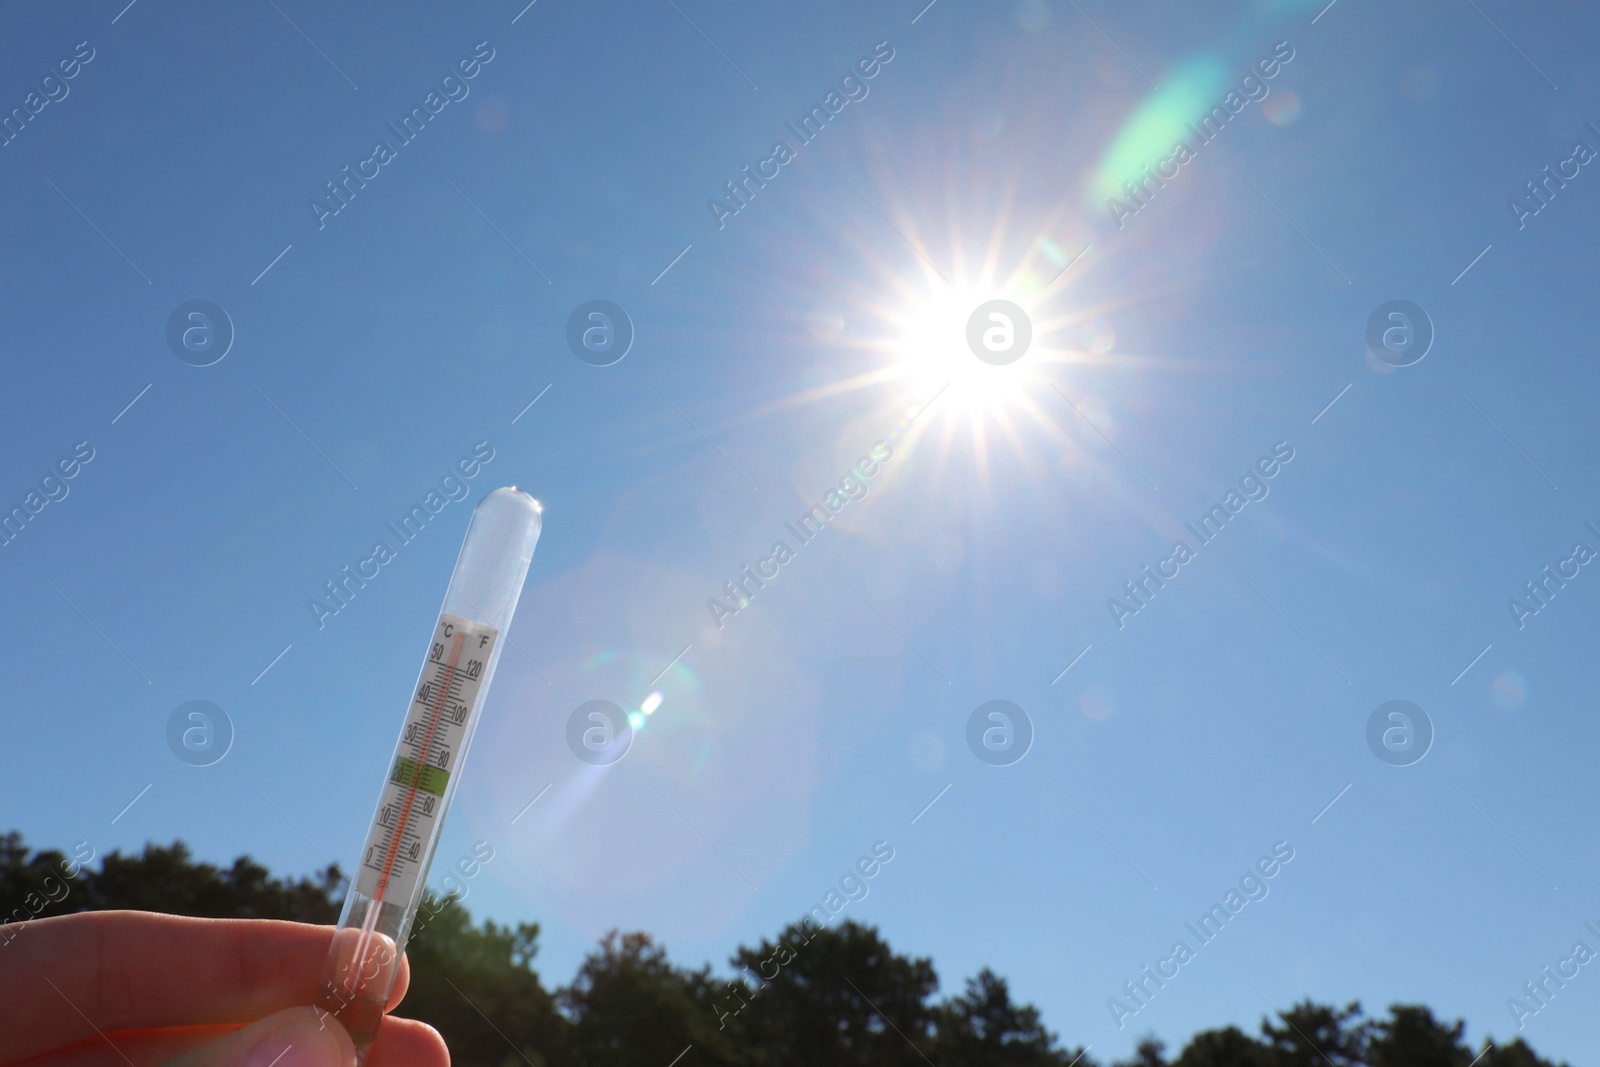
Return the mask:
<svg viewBox="0 0 1600 1067">
<path fill-rule="evenodd" d="M 349 1030 L 357 1062 L 400 971 L 539 526 L 536 499 L 515 486 L 494 490 L 474 509 L 450 576 L 317 987 L 317 1008 Z"/>
</svg>

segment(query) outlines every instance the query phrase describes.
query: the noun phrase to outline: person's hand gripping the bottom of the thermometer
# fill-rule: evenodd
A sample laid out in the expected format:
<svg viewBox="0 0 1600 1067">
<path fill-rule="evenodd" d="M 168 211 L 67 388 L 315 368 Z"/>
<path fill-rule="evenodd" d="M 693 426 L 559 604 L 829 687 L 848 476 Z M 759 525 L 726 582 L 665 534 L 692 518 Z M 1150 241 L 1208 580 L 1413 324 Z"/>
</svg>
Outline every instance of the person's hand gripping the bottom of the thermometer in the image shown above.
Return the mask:
<svg viewBox="0 0 1600 1067">
<path fill-rule="evenodd" d="M 354 1067 L 310 1008 L 331 926 L 83 912 L 10 925 L 0 942 L 0 1064 Z M 389 997 L 405 997 L 402 963 Z M 438 1032 L 384 1017 L 366 1067 L 450 1067 Z"/>
</svg>

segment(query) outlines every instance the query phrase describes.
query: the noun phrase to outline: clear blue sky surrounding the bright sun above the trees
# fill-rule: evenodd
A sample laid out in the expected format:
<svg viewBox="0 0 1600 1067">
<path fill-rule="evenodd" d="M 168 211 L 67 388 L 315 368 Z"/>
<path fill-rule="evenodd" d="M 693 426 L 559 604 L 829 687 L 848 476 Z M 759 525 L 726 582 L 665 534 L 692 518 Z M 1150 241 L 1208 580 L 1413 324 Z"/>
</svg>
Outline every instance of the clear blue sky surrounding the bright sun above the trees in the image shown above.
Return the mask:
<svg viewBox="0 0 1600 1067">
<path fill-rule="evenodd" d="M 880 840 L 846 913 L 946 989 L 994 966 L 1107 1057 L 1301 997 L 1421 1000 L 1482 1043 L 1600 949 L 1600 577 L 1520 629 L 1507 606 L 1600 550 L 1600 178 L 1509 208 L 1600 149 L 1590 18 L 139 0 L 8 27 L 0 107 L 66 94 L 0 147 L 5 507 L 93 450 L 0 549 L 26 621 L 3 822 L 35 843 L 349 862 L 469 502 L 520 485 L 544 534 L 435 880 L 490 841 L 467 905 L 542 923 L 552 984 L 613 926 L 720 966 Z M 1266 98 L 1118 227 L 1106 182 L 1280 42 Z M 165 339 L 192 299 L 235 331 L 211 366 Z M 565 341 L 590 299 L 634 325 L 611 366 Z M 989 299 L 1032 322 L 1006 366 L 966 347 Z M 1394 299 L 1435 331 L 1398 368 L 1363 342 Z M 867 494 L 718 627 L 707 598 L 878 440 Z M 469 502 L 318 629 L 307 600 L 480 442 Z M 1197 544 L 1280 442 L 1270 493 Z M 1178 539 L 1118 629 L 1107 600 Z M 579 704 L 651 693 L 614 766 L 566 749 Z M 234 725 L 211 766 L 166 745 L 194 699 Z M 966 747 L 990 699 L 1032 721 L 1010 766 Z M 1392 699 L 1434 725 L 1410 766 L 1366 744 Z M 1118 1030 L 1107 998 L 1277 841 L 1270 894 Z M 1587 971 L 1525 1019 L 1547 1056 L 1595 1048 Z"/>
</svg>

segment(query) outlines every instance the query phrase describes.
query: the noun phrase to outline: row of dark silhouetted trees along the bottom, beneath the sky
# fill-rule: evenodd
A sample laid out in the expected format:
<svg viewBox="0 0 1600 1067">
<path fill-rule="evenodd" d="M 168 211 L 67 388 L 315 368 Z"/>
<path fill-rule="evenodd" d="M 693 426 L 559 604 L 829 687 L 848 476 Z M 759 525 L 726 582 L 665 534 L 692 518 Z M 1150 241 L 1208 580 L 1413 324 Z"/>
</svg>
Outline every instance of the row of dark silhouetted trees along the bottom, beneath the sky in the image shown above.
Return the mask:
<svg viewBox="0 0 1600 1067">
<path fill-rule="evenodd" d="M 29 849 L 0 835 L 0 960 L 11 923 L 136 909 L 203 918 L 338 921 L 344 878 L 274 877 L 248 856 L 198 862 L 181 841 L 110 853 Z M 538 923 L 475 925 L 453 899 L 411 939 L 411 989 L 395 1014 L 434 1025 L 466 1067 L 1101 1067 L 1016 1003 L 987 968 L 938 997 L 933 961 L 894 952 L 872 926 L 790 923 L 741 945 L 731 974 L 683 968 L 645 933 L 610 933 L 573 981 L 547 989 Z M 779 963 L 771 981 L 762 965 Z M 763 971 L 765 973 L 765 971 Z M 1174 1056 L 1150 1037 L 1110 1067 L 1568 1067 L 1520 1038 L 1472 1049 L 1464 1024 L 1424 1005 L 1368 1017 L 1358 1003 L 1301 1001 L 1258 1033 L 1203 1030 Z M 675 1061 L 680 1053 L 682 1061 Z"/>
</svg>

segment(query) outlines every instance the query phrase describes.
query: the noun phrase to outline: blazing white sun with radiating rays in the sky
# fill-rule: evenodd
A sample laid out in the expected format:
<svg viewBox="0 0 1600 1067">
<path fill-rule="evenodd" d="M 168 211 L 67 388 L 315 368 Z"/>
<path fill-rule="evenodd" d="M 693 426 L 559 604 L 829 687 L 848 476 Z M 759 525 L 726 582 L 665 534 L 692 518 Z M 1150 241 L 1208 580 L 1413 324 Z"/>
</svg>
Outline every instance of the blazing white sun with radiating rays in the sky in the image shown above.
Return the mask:
<svg viewBox="0 0 1600 1067">
<path fill-rule="evenodd" d="M 1062 466 L 1099 469 L 1110 438 L 1088 419 L 1138 363 L 1110 352 L 1106 318 L 1141 298 L 1106 296 L 1104 258 L 1064 218 L 1072 205 L 1022 211 L 1002 182 L 952 190 L 939 221 L 925 192 L 920 178 L 885 173 L 866 221 L 830 222 L 854 262 L 826 296 L 810 277 L 797 285 L 816 301 L 802 336 L 818 358 L 760 411 L 856 394 L 872 408 L 861 418 L 904 419 L 906 446 L 941 470 L 1042 483 Z"/>
</svg>

